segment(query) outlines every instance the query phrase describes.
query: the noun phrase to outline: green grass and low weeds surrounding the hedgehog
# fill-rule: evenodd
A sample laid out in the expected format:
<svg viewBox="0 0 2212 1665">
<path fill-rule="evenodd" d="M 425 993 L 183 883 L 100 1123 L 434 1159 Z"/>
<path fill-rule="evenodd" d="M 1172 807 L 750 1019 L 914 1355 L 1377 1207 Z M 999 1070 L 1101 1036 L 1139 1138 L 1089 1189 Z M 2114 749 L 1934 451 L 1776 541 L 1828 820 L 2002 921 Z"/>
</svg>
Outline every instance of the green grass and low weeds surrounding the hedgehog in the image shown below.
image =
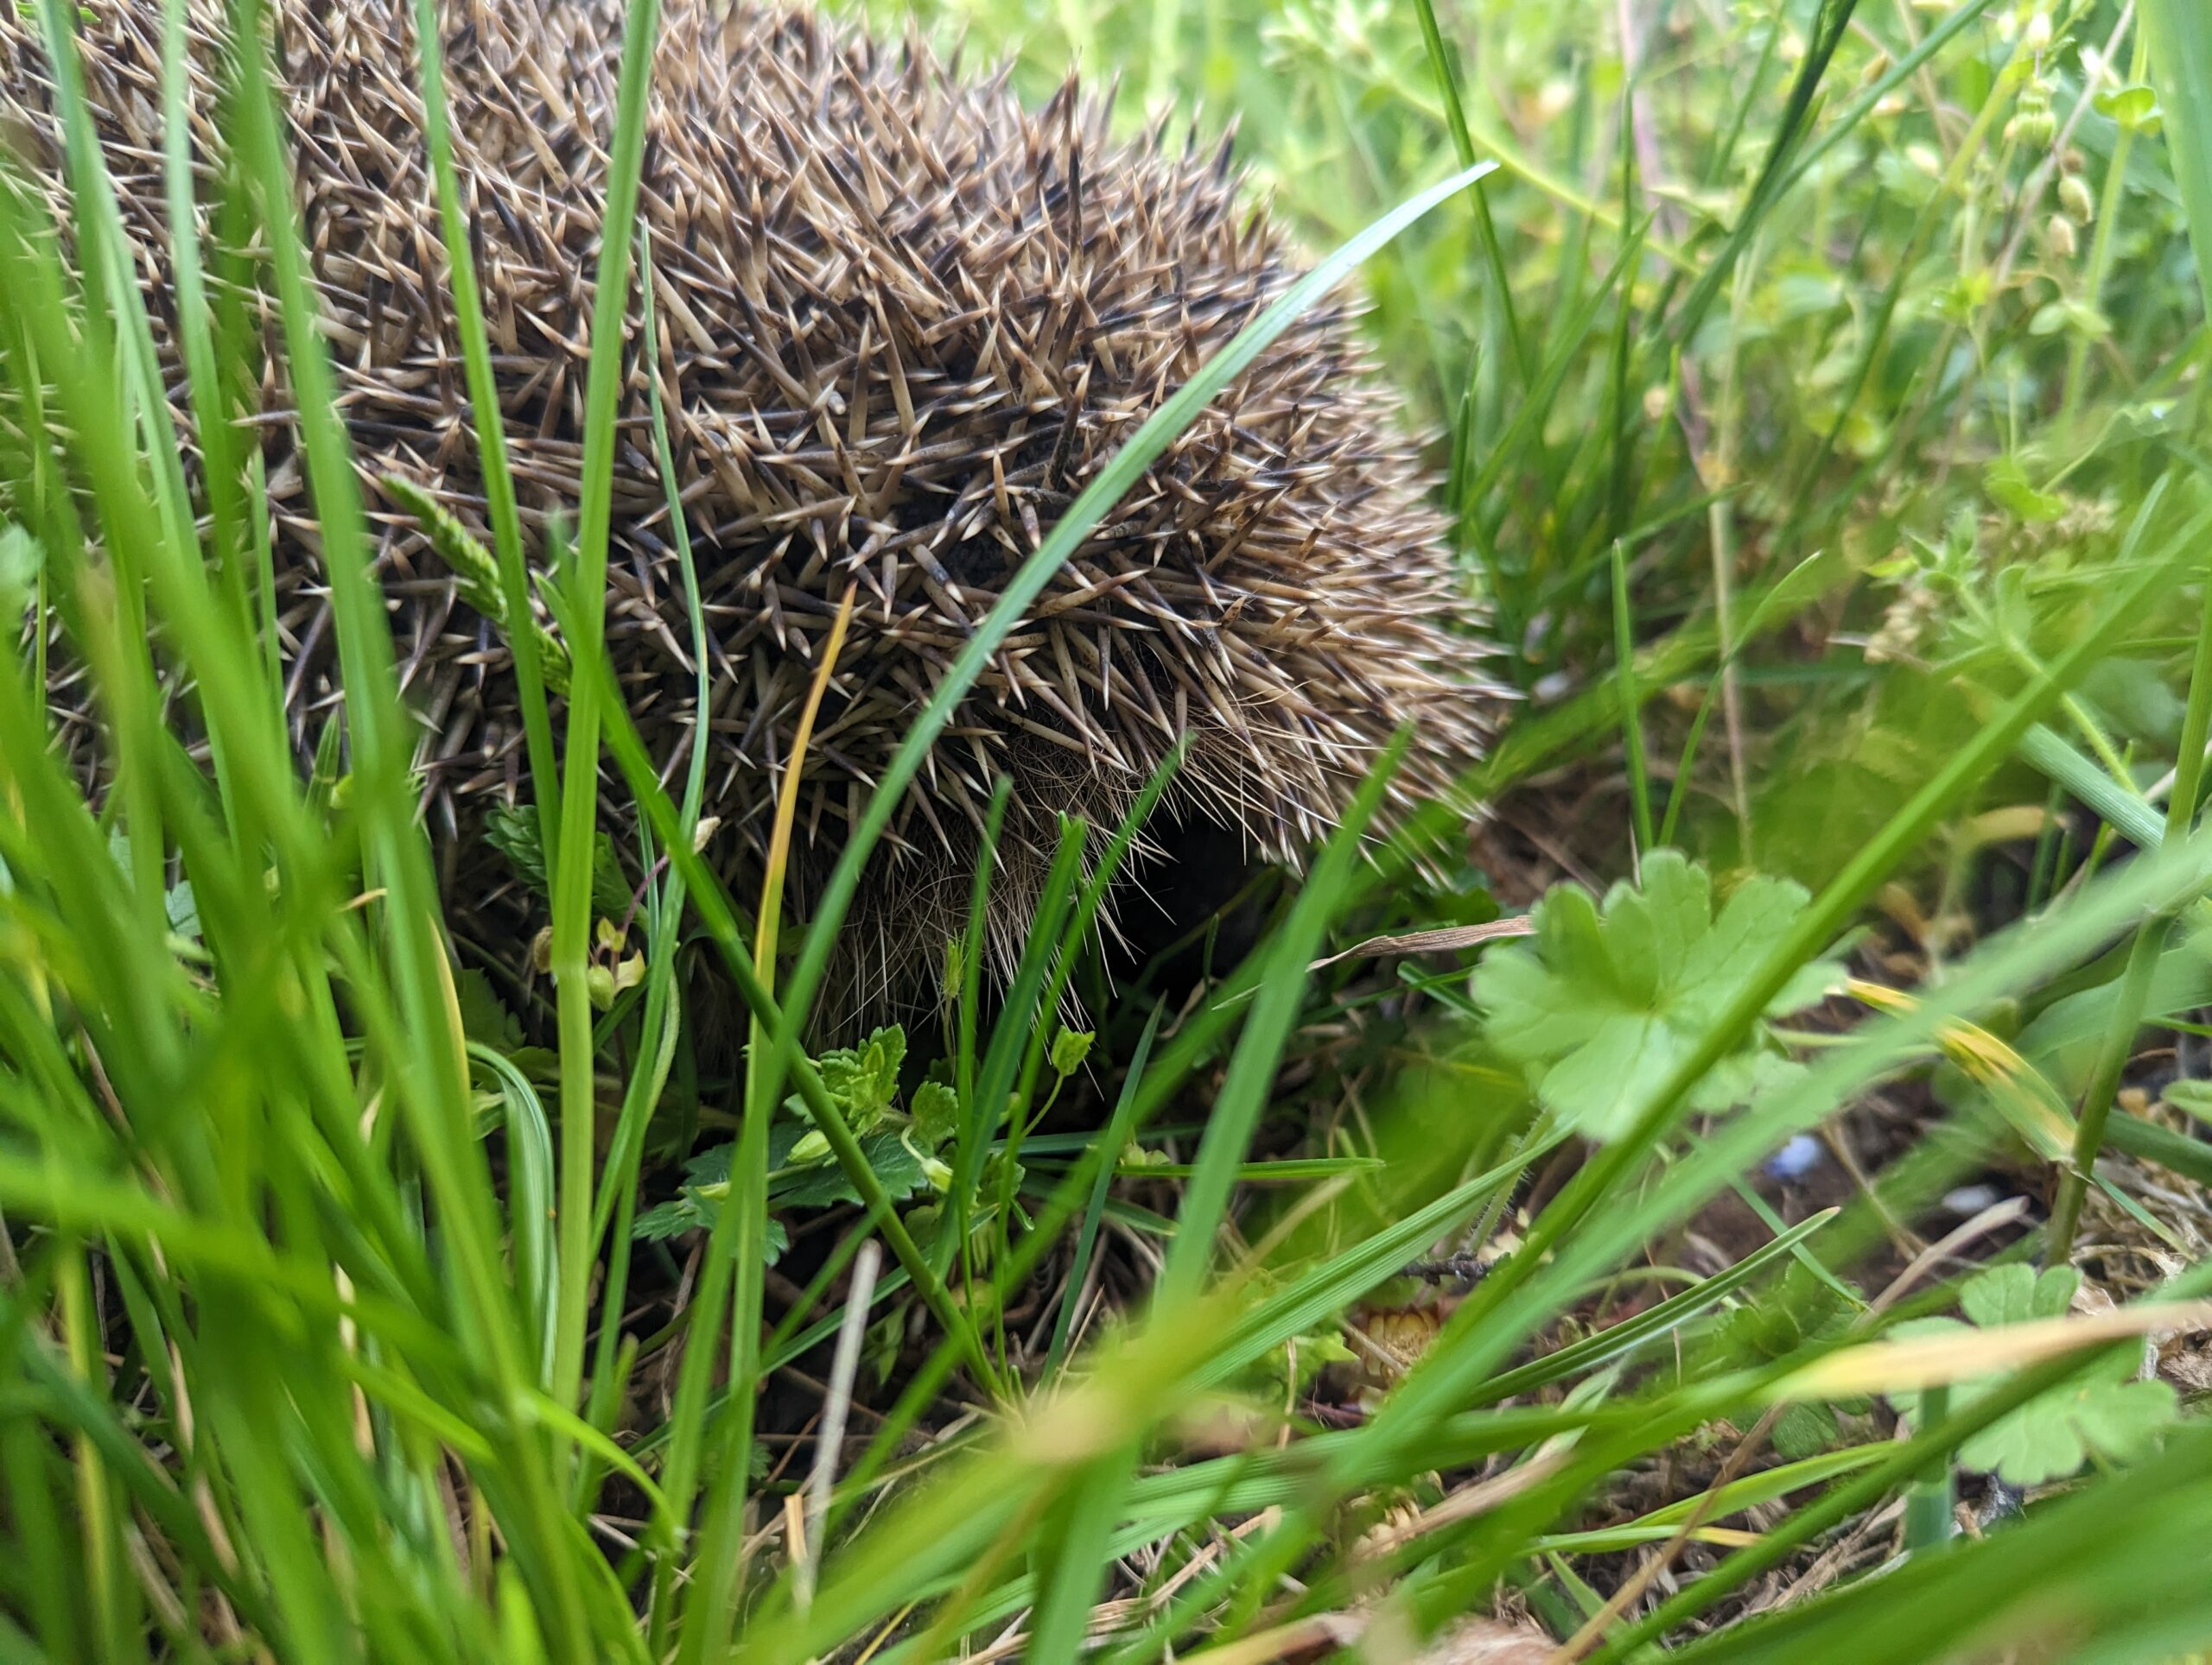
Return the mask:
<svg viewBox="0 0 2212 1665">
<path fill-rule="evenodd" d="M 38 15 L 66 38 L 71 7 Z M 164 22 L 175 128 L 181 0 Z M 1259 1661 L 1360 1634 L 1402 1656 L 1482 1614 L 1593 1661 L 2201 1650 L 2212 1453 L 2188 1393 L 2121 1391 L 2139 1342 L 2022 1362 L 1995 1324 L 1940 1380 L 1882 1375 L 1900 1324 L 1989 1300 L 1984 1263 L 2079 1252 L 2124 1307 L 2212 1296 L 2183 1119 L 2212 1095 L 2168 1086 L 2212 999 L 2190 9 L 978 0 L 925 24 L 1035 91 L 1077 55 L 1124 71 L 1128 130 L 1159 102 L 1201 133 L 1237 113 L 1256 186 L 1334 254 L 1051 528 L 783 920 L 695 854 L 703 752 L 661 787 L 602 641 L 617 321 L 653 261 L 657 7 L 633 7 L 575 548 L 535 579 L 560 747 L 551 661 L 509 630 L 544 1035 L 447 931 L 263 69 L 223 113 L 237 166 L 173 142 L 164 177 L 173 212 L 199 197 L 268 250 L 343 783 L 336 727 L 294 767 L 265 513 L 210 420 L 261 329 L 226 254 L 175 250 L 166 389 L 71 73 L 69 237 L 0 177 L 0 588 L 33 621 L 0 677 L 0 1654 L 933 1661 L 1020 1636 L 1057 1661 L 1088 1636 Z M 440 69 L 411 69 L 460 243 Z M 1467 781 L 1509 834 L 1469 860 L 1431 809 L 1374 840 L 1394 750 L 1263 896 L 1259 942 L 1161 997 L 1113 986 L 1093 929 L 1170 758 L 1124 825 L 1064 827 L 1002 995 L 980 931 L 958 944 L 942 1079 L 905 1037 L 810 1050 L 869 847 L 964 690 L 1175 433 L 1356 274 L 1520 697 Z M 493 542 L 465 557 L 518 621 L 491 352 L 467 263 L 453 283 Z M 173 398 L 217 436 L 206 486 Z M 55 630 L 113 765 L 93 800 L 38 697 Z M 644 964 L 595 999 L 606 794 Z M 1557 871 L 1621 884 L 1553 889 L 1526 940 L 1332 957 Z M 779 929 L 796 955 L 761 946 Z M 697 1079 L 690 957 L 743 1004 L 737 1081 Z M 1820 1004 L 1845 960 L 1911 997 Z M 1820 1130 L 1863 1170 L 1816 1207 L 1767 1163 Z M 2022 1225 L 1891 1289 L 1984 1176 Z M 891 1265 L 799 1579 L 792 1391 L 818 1409 L 867 1238 Z M 1449 1311 L 1409 1274 L 1442 1256 L 1482 1267 Z M 1433 1322 L 1383 1362 L 1407 1307 Z M 1847 1366 L 1880 1393 L 1823 1386 Z M 1993 1439 L 2015 1519 L 1969 1462 Z M 1949 1535 L 1955 1499 L 1975 1532 Z"/>
</svg>

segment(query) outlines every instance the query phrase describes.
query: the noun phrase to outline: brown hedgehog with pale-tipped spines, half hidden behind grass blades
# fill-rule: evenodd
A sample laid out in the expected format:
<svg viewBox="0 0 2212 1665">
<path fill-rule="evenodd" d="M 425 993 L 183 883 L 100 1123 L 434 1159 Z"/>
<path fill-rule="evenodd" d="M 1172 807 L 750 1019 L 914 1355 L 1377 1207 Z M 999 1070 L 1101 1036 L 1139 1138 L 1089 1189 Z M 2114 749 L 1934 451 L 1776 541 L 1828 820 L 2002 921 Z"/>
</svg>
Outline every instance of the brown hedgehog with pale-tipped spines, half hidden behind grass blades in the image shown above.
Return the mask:
<svg viewBox="0 0 2212 1665">
<path fill-rule="evenodd" d="M 378 568 L 422 723 L 434 827 L 526 794 L 502 632 L 458 595 L 385 475 L 484 524 L 447 256 L 425 159 L 411 0 L 281 0 L 274 69 L 332 356 L 380 531 Z M 584 365 L 619 64 L 617 0 L 447 4 L 456 166 L 526 533 L 573 511 Z M 84 13 L 80 46 L 137 270 L 177 389 L 161 155 L 161 15 Z M 201 197 L 221 179 L 223 9 L 190 4 Z M 35 24 L 0 13 L 0 130 L 66 223 Z M 1108 137 L 1073 82 L 1042 111 L 918 42 L 810 15 L 672 0 L 653 73 L 641 219 L 657 338 L 630 334 L 606 641 L 670 778 L 708 747 L 712 856 L 759 871 L 776 783 L 832 619 L 856 595 L 805 761 L 794 904 L 911 716 L 1077 491 L 1294 279 L 1239 203 L 1225 146 Z M 219 228 L 204 226 L 210 237 Z M 257 299 L 274 341 L 274 307 Z M 272 354 L 274 358 L 274 354 Z M 648 378 L 710 632 L 690 626 L 653 460 Z M 281 371 L 241 411 L 263 436 L 299 745 L 336 710 L 314 506 Z M 1491 708 L 1475 624 L 1391 398 L 1343 307 L 1307 314 L 1150 467 L 995 655 L 898 805 L 863 887 L 863 993 L 911 995 L 967 909 L 993 781 L 1011 807 L 1000 953 L 1055 818 L 1115 823 L 1186 730 L 1179 814 L 1296 862 L 1411 716 L 1398 796 L 1442 785 Z M 542 557 L 542 548 L 538 551 Z M 86 752 L 82 701 L 58 690 Z M 608 794 L 615 796 L 615 794 Z M 617 798 L 619 800 L 619 798 Z M 465 904 L 465 898 L 460 898 Z"/>
</svg>

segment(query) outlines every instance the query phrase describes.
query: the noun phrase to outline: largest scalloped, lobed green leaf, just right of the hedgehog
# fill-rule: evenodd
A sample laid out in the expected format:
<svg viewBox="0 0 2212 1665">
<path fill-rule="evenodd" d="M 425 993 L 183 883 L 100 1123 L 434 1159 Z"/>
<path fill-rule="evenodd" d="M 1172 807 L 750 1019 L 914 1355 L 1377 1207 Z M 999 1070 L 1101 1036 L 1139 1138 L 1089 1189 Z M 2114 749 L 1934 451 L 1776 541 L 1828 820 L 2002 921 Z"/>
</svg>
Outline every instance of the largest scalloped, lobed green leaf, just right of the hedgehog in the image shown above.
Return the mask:
<svg viewBox="0 0 2212 1665">
<path fill-rule="evenodd" d="M 1805 909 L 1805 891 L 1754 876 L 1714 911 L 1712 878 L 1672 849 L 1644 860 L 1641 889 L 1615 884 L 1604 909 L 1577 887 L 1537 902 L 1531 940 L 1493 949 L 1475 971 L 1484 1033 L 1522 1064 L 1537 1099 L 1593 1139 L 1628 1130 L 1641 1095 L 1697 1046 Z M 1765 1015 L 1816 1004 L 1843 968 L 1814 960 Z M 1712 1070 L 1694 1095 L 1725 1110 L 1792 1066 L 1765 1035 Z"/>
</svg>

